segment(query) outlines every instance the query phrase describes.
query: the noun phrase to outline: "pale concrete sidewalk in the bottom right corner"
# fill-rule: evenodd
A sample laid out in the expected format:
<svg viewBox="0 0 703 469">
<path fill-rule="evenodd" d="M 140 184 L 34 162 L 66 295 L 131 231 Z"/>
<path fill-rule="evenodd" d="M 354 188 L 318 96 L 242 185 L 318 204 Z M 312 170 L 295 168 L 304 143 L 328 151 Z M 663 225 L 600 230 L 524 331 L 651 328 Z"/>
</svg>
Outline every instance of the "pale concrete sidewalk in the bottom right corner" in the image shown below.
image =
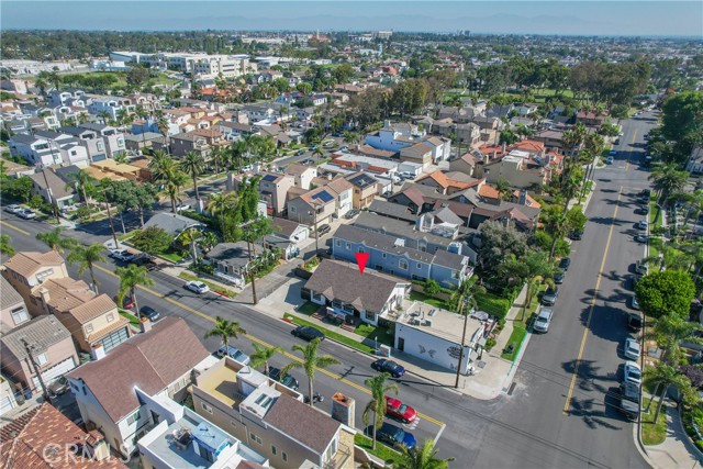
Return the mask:
<svg viewBox="0 0 703 469">
<path fill-rule="evenodd" d="M 667 438 L 660 445 L 646 446 L 643 456 L 655 469 L 703 467 L 698 450 L 691 447 L 693 443 L 685 434 L 679 410 L 670 401 L 667 404 L 670 404 L 667 405 Z"/>
</svg>

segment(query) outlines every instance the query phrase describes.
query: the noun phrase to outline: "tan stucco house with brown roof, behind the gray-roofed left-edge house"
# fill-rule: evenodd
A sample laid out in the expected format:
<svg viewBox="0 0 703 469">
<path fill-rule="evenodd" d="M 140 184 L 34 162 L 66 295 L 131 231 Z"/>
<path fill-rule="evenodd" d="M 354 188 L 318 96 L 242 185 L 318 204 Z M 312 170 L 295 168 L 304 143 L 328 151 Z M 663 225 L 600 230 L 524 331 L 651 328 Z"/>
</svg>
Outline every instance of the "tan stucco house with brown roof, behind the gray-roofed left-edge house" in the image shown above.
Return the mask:
<svg viewBox="0 0 703 469">
<path fill-rule="evenodd" d="M 96 347 L 109 351 L 131 335 L 130 321 L 105 293 L 96 294 L 82 280 L 70 277 L 48 279 L 32 292 L 32 303 L 44 314 L 54 314 L 82 351 Z"/>
</svg>

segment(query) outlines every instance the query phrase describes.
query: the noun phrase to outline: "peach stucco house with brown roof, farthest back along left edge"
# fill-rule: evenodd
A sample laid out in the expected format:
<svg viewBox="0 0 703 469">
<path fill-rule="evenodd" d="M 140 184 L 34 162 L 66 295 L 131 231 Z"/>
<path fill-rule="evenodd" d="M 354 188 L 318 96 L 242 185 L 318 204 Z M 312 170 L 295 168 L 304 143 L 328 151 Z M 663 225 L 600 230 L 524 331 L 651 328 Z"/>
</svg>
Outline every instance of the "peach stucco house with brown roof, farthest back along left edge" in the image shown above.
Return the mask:
<svg viewBox="0 0 703 469">
<path fill-rule="evenodd" d="M 2 277 L 20 293 L 30 313 L 37 316 L 44 314 L 44 310 L 32 301 L 33 291 L 46 280 L 68 277 L 68 270 L 64 258 L 54 250 L 21 252 L 2 265 Z M 5 294 L 4 287 L 2 294 Z"/>
</svg>

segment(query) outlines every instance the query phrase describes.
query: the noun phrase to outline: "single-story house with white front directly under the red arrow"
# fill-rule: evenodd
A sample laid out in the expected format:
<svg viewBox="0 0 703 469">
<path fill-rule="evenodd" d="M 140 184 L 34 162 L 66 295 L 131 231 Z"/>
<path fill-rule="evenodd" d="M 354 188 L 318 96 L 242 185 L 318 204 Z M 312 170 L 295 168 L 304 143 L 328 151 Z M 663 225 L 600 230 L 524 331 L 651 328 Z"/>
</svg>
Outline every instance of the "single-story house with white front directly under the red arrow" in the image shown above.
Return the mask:
<svg viewBox="0 0 703 469">
<path fill-rule="evenodd" d="M 356 264 L 324 259 L 305 282 L 301 295 L 330 308 L 335 315 L 379 325 L 390 321 L 410 290 L 410 282 Z"/>
</svg>

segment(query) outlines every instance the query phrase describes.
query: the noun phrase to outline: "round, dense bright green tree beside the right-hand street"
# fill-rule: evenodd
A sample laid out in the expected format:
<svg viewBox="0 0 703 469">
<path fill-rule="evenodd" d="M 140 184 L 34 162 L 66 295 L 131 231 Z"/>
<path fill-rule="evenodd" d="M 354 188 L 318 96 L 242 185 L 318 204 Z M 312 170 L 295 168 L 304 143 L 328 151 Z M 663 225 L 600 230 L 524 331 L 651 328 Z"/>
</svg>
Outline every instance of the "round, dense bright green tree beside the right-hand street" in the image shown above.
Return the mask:
<svg viewBox="0 0 703 469">
<path fill-rule="evenodd" d="M 654 317 L 674 314 L 683 320 L 689 316 L 695 286 L 689 273 L 665 270 L 645 276 L 635 286 L 635 295 L 641 311 Z"/>
</svg>

